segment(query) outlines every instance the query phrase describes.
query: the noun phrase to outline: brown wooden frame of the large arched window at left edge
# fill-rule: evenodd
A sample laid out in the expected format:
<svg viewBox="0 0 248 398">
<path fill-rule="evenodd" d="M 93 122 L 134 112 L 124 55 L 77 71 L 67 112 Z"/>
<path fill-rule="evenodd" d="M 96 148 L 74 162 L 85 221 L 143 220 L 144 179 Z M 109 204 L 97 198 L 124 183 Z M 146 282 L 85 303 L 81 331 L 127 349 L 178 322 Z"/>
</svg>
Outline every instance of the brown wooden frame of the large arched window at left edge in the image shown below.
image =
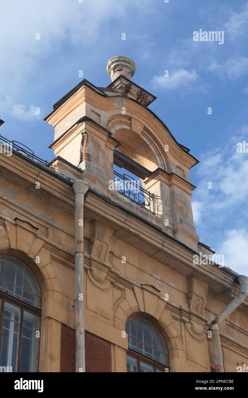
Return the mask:
<svg viewBox="0 0 248 398">
<path fill-rule="evenodd" d="M 28 267 L 27 264 L 25 264 L 23 261 L 21 261 L 18 257 L 15 256 L 9 256 L 8 254 L 3 254 L 0 255 L 0 257 L 5 257 L 5 270 L 4 270 L 4 277 L 6 274 L 6 262 L 7 262 L 7 258 L 14 258 L 17 261 L 19 261 L 20 263 L 22 263 L 24 265 L 24 267 L 27 267 L 29 269 L 29 271 L 31 271 L 33 277 L 35 278 L 36 282 L 37 282 L 37 286 L 39 288 L 40 291 L 40 307 L 41 307 L 41 287 L 39 285 L 39 281 L 37 280 L 37 277 L 35 276 L 35 274 L 33 273 L 33 271 L 30 269 L 30 267 Z M 23 275 L 24 278 L 24 275 Z M 5 278 L 4 278 L 5 280 Z M 24 279 L 23 279 L 24 280 Z M 23 289 L 24 289 L 24 283 L 23 283 Z M 0 299 L 1 299 L 1 308 L 0 308 L 0 354 L 1 354 L 1 344 L 2 344 L 2 325 L 3 325 L 3 320 L 4 320 L 4 303 L 5 301 L 7 301 L 8 303 L 20 308 L 20 330 L 18 333 L 18 355 L 17 355 L 17 367 L 16 367 L 16 373 L 20 372 L 20 368 L 21 368 L 21 343 L 22 343 L 22 332 L 23 332 L 23 313 L 24 311 L 27 311 L 33 315 L 36 315 L 38 317 L 38 330 L 40 332 L 41 330 L 41 308 L 37 308 L 32 306 L 31 304 L 26 303 L 25 301 L 20 300 L 19 298 L 13 297 L 11 295 L 9 295 L 8 293 L 5 293 L 3 291 L 0 291 Z M 36 358 L 36 372 L 39 371 L 39 352 L 40 352 L 40 339 L 38 341 L 37 344 L 37 358 Z"/>
</svg>

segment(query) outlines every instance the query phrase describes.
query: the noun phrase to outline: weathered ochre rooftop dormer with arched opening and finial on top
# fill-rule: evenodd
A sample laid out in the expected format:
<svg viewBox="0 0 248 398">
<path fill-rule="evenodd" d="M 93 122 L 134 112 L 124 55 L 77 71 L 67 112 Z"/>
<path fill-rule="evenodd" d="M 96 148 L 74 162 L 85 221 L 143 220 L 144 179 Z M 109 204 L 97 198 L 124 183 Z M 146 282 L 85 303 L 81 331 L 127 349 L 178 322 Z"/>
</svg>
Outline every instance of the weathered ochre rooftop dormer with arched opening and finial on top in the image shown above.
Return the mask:
<svg viewBox="0 0 248 398">
<path fill-rule="evenodd" d="M 54 162 L 84 170 L 92 189 L 197 250 L 189 169 L 198 160 L 148 108 L 156 97 L 131 81 L 135 69 L 133 60 L 114 57 L 107 88 L 82 80 L 55 103 L 45 118 L 55 127 Z M 124 172 L 114 174 L 115 166 Z M 126 171 L 140 179 L 143 199 L 110 189 Z"/>
</svg>

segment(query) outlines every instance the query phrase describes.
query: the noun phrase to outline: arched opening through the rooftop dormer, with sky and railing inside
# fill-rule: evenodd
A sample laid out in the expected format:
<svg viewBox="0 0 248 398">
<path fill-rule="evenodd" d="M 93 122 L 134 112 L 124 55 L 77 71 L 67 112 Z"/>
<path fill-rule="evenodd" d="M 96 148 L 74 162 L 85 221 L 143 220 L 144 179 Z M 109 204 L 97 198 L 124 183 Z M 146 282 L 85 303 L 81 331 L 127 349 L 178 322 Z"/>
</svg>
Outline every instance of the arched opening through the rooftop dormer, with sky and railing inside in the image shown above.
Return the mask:
<svg viewBox="0 0 248 398">
<path fill-rule="evenodd" d="M 154 133 L 128 115 L 114 115 L 109 119 L 108 129 L 120 143 L 113 155 L 114 176 L 121 181 L 119 193 L 162 217 L 161 184 L 154 173 L 159 169 L 170 170 L 165 148 Z M 125 189 L 128 179 L 131 185 L 135 181 L 139 192 Z"/>
</svg>

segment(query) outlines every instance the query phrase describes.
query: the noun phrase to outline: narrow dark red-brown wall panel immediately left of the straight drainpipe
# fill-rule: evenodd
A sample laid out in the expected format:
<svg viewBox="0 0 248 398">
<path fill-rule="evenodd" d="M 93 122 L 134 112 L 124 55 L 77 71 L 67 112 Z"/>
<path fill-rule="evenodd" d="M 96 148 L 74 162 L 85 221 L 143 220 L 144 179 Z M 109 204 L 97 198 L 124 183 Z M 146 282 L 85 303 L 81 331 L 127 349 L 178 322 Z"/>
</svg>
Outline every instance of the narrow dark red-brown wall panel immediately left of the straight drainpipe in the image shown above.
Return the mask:
<svg viewBox="0 0 248 398">
<path fill-rule="evenodd" d="M 75 330 L 61 324 L 60 371 L 75 372 Z"/>
</svg>

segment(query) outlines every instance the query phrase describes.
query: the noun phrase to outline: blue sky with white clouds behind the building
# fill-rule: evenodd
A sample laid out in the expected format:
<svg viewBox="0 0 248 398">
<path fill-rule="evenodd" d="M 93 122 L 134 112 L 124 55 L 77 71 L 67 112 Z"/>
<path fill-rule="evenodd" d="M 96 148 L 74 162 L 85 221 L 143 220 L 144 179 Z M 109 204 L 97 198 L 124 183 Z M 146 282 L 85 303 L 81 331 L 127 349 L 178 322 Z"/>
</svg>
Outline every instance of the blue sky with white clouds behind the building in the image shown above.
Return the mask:
<svg viewBox="0 0 248 398">
<path fill-rule="evenodd" d="M 199 29 L 224 31 L 224 44 L 194 42 Z M 248 275 L 248 153 L 236 152 L 238 142 L 248 142 L 247 32 L 242 0 L 3 2 L 1 134 L 51 160 L 53 128 L 43 117 L 53 103 L 82 80 L 79 70 L 104 87 L 107 60 L 130 57 L 133 81 L 158 97 L 150 109 L 201 162 L 191 169 L 200 241 Z"/>
</svg>

